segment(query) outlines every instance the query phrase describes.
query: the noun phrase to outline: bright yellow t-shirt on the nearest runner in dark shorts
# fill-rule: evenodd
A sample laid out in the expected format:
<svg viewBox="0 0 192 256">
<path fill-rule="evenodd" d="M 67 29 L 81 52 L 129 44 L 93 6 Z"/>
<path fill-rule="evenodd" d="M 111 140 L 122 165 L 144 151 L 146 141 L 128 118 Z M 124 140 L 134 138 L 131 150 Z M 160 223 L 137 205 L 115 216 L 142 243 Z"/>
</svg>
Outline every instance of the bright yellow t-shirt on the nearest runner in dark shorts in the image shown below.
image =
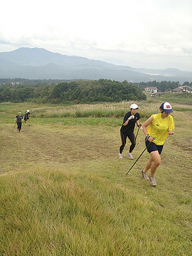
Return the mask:
<svg viewBox="0 0 192 256">
<path fill-rule="evenodd" d="M 150 136 L 156 137 L 154 140 L 156 145 L 163 145 L 168 132 L 175 127 L 173 117 L 169 115 L 163 119 L 161 118 L 161 113 L 152 116 L 154 116 L 154 120 L 152 124 L 148 125 L 147 132 Z"/>
</svg>

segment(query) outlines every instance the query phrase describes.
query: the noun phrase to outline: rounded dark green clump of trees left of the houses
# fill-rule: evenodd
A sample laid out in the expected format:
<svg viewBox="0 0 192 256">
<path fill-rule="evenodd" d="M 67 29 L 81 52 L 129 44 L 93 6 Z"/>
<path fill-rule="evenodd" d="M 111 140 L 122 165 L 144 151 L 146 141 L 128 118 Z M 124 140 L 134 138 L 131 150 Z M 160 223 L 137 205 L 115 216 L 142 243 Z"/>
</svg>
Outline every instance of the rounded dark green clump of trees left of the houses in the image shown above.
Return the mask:
<svg viewBox="0 0 192 256">
<path fill-rule="evenodd" d="M 124 100 L 146 100 L 141 90 L 129 83 L 120 83 L 108 79 L 99 81 L 74 81 L 56 85 L 61 88 L 56 100 L 60 103 L 93 103 L 93 102 L 121 102 Z M 65 90 L 64 90 L 65 88 Z M 55 88 L 53 89 L 55 92 Z M 53 95 L 53 94 L 52 94 Z M 54 94 L 56 96 L 56 94 Z"/>
</svg>

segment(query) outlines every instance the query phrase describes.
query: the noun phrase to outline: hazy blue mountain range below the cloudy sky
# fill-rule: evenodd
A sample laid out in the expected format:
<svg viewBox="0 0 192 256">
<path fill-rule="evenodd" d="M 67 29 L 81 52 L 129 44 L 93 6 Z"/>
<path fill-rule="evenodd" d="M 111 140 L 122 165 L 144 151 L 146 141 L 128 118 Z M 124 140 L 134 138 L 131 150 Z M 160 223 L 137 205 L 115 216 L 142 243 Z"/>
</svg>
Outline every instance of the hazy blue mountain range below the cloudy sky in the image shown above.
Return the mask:
<svg viewBox="0 0 192 256">
<path fill-rule="evenodd" d="M 100 60 L 67 56 L 42 48 L 22 47 L 0 52 L 0 78 L 111 79 L 115 81 L 192 81 L 192 72 L 176 68 L 149 69 L 114 65 Z"/>
</svg>

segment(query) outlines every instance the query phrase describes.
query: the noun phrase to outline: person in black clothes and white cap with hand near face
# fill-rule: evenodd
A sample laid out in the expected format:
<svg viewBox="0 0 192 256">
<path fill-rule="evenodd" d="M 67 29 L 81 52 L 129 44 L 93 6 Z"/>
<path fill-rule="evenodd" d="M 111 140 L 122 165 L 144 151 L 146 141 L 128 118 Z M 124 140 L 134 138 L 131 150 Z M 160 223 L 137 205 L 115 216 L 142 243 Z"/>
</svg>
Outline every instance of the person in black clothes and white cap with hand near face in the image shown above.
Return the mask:
<svg viewBox="0 0 192 256">
<path fill-rule="evenodd" d="M 134 127 L 135 127 L 135 124 L 137 124 L 138 127 L 141 127 L 141 124 L 139 124 L 139 119 L 140 119 L 140 114 L 138 113 L 138 105 L 131 104 L 130 111 L 125 114 L 124 122 L 120 129 L 122 145 L 120 146 L 120 152 L 118 153 L 119 159 L 124 158 L 122 152 L 124 150 L 127 137 L 131 141 L 131 146 L 129 148 L 129 152 L 127 153 L 127 155 L 129 156 L 130 159 L 133 159 L 133 156 L 131 153 L 136 145 L 135 136 L 134 136 Z"/>
</svg>

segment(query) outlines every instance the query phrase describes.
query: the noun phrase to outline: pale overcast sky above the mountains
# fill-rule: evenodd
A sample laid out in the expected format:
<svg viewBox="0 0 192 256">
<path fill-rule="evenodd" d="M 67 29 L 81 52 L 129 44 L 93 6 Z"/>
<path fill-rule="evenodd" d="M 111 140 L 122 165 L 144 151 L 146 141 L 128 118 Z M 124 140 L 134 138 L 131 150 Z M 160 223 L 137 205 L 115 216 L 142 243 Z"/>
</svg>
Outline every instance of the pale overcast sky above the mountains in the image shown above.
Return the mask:
<svg viewBox="0 0 192 256">
<path fill-rule="evenodd" d="M 20 47 L 192 72 L 192 1 L 2 1 L 0 52 Z"/>
</svg>

